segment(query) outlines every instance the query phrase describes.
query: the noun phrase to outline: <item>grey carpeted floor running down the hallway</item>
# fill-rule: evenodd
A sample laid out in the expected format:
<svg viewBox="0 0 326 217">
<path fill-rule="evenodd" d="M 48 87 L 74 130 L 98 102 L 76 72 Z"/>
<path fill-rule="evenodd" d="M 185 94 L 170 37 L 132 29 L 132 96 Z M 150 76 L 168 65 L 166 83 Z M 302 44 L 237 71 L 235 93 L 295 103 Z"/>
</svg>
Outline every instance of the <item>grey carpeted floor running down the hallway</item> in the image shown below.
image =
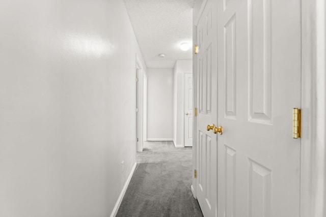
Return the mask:
<svg viewBox="0 0 326 217">
<path fill-rule="evenodd" d="M 145 142 L 116 216 L 203 216 L 191 192 L 192 148 Z"/>
</svg>

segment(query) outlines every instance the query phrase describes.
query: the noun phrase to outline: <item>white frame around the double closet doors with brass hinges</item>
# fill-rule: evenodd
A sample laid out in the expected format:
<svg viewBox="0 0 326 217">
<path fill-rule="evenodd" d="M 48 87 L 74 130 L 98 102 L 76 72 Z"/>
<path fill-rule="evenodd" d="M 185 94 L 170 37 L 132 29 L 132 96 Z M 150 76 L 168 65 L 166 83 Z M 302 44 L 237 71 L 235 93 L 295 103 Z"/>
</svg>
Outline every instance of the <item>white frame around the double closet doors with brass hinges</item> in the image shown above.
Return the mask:
<svg viewBox="0 0 326 217">
<path fill-rule="evenodd" d="M 193 23 L 193 47 L 196 29 L 207 0 Z M 326 3 L 324 0 L 301 0 L 302 33 L 302 138 L 300 216 L 326 215 Z M 197 102 L 197 60 L 193 53 L 194 105 Z M 315 99 L 318 99 L 315 100 Z M 319 118 L 318 118 L 319 117 Z M 194 116 L 193 169 L 196 170 L 196 122 Z M 196 195 L 197 179 L 193 176 L 191 190 Z"/>
</svg>

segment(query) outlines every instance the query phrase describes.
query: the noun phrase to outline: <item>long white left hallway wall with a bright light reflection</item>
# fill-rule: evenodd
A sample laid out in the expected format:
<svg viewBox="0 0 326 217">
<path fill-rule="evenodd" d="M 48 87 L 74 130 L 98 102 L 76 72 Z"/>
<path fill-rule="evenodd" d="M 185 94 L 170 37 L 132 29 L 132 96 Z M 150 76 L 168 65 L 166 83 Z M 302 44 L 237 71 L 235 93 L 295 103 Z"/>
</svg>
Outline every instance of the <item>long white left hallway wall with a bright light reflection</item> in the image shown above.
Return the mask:
<svg viewBox="0 0 326 217">
<path fill-rule="evenodd" d="M 110 216 L 135 163 L 123 1 L 5 0 L 0 29 L 0 216 Z"/>
</svg>

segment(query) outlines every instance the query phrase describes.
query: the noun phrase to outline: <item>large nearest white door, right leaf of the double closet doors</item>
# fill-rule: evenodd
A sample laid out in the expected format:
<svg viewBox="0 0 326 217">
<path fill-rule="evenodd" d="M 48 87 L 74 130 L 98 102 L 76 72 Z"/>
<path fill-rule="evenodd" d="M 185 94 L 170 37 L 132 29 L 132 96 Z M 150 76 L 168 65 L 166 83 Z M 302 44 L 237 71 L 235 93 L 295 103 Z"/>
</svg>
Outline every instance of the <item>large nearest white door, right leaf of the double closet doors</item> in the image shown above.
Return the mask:
<svg viewBox="0 0 326 217">
<path fill-rule="evenodd" d="M 300 0 L 218 1 L 218 216 L 300 216 Z"/>
</svg>

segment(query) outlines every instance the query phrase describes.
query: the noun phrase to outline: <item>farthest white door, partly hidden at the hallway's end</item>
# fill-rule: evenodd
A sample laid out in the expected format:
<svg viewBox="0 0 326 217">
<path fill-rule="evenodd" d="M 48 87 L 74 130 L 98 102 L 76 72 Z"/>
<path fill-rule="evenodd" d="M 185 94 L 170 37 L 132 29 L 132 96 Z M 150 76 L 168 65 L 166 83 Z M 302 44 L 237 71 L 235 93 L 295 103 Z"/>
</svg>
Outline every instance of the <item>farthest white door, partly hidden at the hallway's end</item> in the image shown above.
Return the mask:
<svg viewBox="0 0 326 217">
<path fill-rule="evenodd" d="M 193 146 L 193 74 L 184 74 L 184 146 Z"/>
</svg>

